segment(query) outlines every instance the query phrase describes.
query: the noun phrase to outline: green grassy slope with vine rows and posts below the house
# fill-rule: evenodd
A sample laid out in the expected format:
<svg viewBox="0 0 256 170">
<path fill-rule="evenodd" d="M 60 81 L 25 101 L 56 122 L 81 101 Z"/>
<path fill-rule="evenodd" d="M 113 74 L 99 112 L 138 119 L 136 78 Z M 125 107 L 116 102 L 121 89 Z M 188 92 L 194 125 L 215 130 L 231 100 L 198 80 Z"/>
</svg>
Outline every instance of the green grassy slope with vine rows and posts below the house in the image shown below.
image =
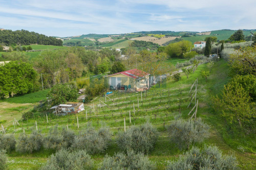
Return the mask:
<svg viewBox="0 0 256 170">
<path fill-rule="evenodd" d="M 167 84 L 163 84 L 161 88 L 155 86 L 150 90 L 147 99 L 143 98 L 143 106 L 140 99 L 140 93 L 136 94 L 123 94 L 116 93 L 113 96 L 110 96 L 115 100 L 115 103 L 107 100 L 105 103 L 111 105 L 111 108 L 100 108 L 98 107 L 98 115 L 96 113 L 90 112 L 90 108 L 92 103 L 96 106 L 99 104 L 99 100 L 104 101 L 102 96 L 99 96 L 92 103 L 87 104 L 85 107 L 88 109 L 89 119 L 92 122 L 93 126 L 101 125 L 101 121 L 106 123 L 114 134 L 118 131 L 118 129 L 123 130 L 123 117 L 125 115 L 127 117 L 127 112 L 129 110 L 133 110 L 133 102 L 137 102 L 137 96 L 139 96 L 140 101 L 140 109 L 139 112 L 136 111 L 135 117 L 136 121 L 132 119 L 132 123 L 139 125 L 146 120 L 146 118 L 150 118 L 152 124 L 154 124 L 158 131 L 160 132 L 159 139 L 156 143 L 155 150 L 148 155 L 150 160 L 156 163 L 158 169 L 164 169 L 168 160 L 173 160 L 177 158 L 177 155 L 182 154 L 183 151 L 179 151 L 173 143 L 169 142 L 168 133 L 163 127 L 163 123 L 165 123 L 165 127 L 168 126 L 171 120 L 174 119 L 174 113 L 177 113 L 178 103 L 177 99 L 179 97 L 182 98 L 181 105 L 181 113 L 184 118 L 187 117 L 187 113 L 189 109 L 186 109 L 187 106 L 187 92 L 191 84 L 198 78 L 198 99 L 199 99 L 199 109 L 198 116 L 203 117 L 204 120 L 211 127 L 211 135 L 210 138 L 206 141 L 207 144 L 217 145 L 225 154 L 228 154 L 230 151 L 233 152 L 240 163 L 241 169 L 255 169 L 256 167 L 256 158 L 255 154 L 252 153 L 241 153 L 237 150 L 236 147 L 232 146 L 231 143 L 227 144 L 228 140 L 231 139 L 231 136 L 224 136 L 225 130 L 225 122 L 220 115 L 216 114 L 211 109 L 211 95 L 215 95 L 220 93 L 220 90 L 223 88 L 223 85 L 228 81 L 227 76 L 227 64 L 224 61 L 220 61 L 215 64 L 212 68 L 211 76 L 209 77 L 209 81 L 205 82 L 204 78 L 201 78 L 200 72 L 206 69 L 206 65 L 200 65 L 194 74 L 191 74 L 188 79 L 183 75 L 182 80 L 179 82 L 173 82 L 172 80 L 168 81 Z M 179 89 L 181 88 L 182 94 L 180 94 Z M 168 99 L 168 91 L 170 93 L 170 98 Z M 118 99 L 117 99 L 118 98 Z M 13 98 L 14 99 L 14 98 Z M 161 99 L 161 102 L 159 101 Z M 117 106 L 116 106 L 117 102 Z M 135 105 L 136 106 L 136 105 Z M 166 109 L 165 106 L 170 106 L 170 108 Z M 127 108 L 126 108 L 127 107 Z M 115 109 L 120 108 L 120 111 Z M 155 110 L 151 111 L 150 109 L 154 108 Z M 141 110 L 142 109 L 142 110 Z M 148 109 L 148 110 L 145 110 Z M 96 110 L 96 107 L 95 107 Z M 136 107 L 137 110 L 137 107 Z M 157 110 L 157 111 L 156 111 Z M 120 115 L 120 112 L 122 115 Z M 113 113 L 114 115 L 111 115 Z M 133 113 L 132 113 L 133 114 Z M 154 114 L 157 114 L 155 119 Z M 167 117 L 166 115 L 167 114 Z M 105 115 L 105 116 L 104 116 Z M 78 114 L 79 118 L 79 127 L 86 127 L 87 121 L 85 119 L 84 113 Z M 69 124 L 69 128 L 74 130 L 76 133 L 78 132 L 76 125 L 76 117 L 74 115 L 58 117 L 57 119 L 54 116 L 49 116 L 49 124 L 46 124 L 45 118 L 37 118 L 37 124 L 42 133 L 48 132 L 49 128 L 47 126 L 52 126 L 55 124 L 59 125 L 59 128 L 66 127 Z M 115 121 L 116 120 L 116 121 Z M 129 118 L 126 119 L 126 128 L 129 128 Z M 34 126 L 35 120 L 29 120 L 27 123 L 23 123 L 23 127 L 26 129 L 26 133 L 31 132 L 31 127 Z M 73 124 L 74 123 L 74 124 Z M 17 130 L 19 133 L 22 132 L 22 129 Z M 8 132 L 13 132 L 13 127 L 8 127 Z M 17 136 L 17 135 L 16 135 Z M 243 145 L 243 143 L 241 143 Z M 202 147 L 203 144 L 197 144 L 199 147 Z M 230 147 L 231 146 L 231 147 Z M 106 151 L 107 154 L 113 155 L 114 152 L 118 152 L 119 149 L 115 143 L 112 143 L 109 149 Z M 256 152 L 255 150 L 253 151 Z M 17 153 L 12 153 L 9 155 L 10 160 L 14 162 L 9 162 L 10 169 L 15 169 L 17 167 L 21 167 L 23 169 L 35 169 L 41 166 L 43 162 L 46 161 L 46 157 L 49 156 L 51 152 L 49 151 L 40 151 L 33 154 L 20 155 Z M 95 166 L 97 166 L 103 158 L 104 154 L 94 155 L 92 156 L 95 159 Z M 30 157 L 27 159 L 27 157 Z M 26 158 L 26 159 L 23 159 Z M 31 163 L 30 163 L 31 162 Z"/>
</svg>

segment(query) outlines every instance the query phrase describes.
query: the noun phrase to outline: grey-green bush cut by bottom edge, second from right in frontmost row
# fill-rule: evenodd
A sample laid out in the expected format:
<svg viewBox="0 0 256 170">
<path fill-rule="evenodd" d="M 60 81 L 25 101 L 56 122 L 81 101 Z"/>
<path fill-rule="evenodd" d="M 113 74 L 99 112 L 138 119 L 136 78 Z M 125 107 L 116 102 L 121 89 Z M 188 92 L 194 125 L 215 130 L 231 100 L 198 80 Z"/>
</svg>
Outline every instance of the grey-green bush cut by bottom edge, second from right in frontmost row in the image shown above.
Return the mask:
<svg viewBox="0 0 256 170">
<path fill-rule="evenodd" d="M 106 155 L 103 159 L 99 170 L 119 170 L 119 169 L 155 169 L 155 165 L 148 160 L 147 156 L 142 153 L 127 152 L 125 155 L 122 152 L 115 153 L 113 157 Z"/>
</svg>

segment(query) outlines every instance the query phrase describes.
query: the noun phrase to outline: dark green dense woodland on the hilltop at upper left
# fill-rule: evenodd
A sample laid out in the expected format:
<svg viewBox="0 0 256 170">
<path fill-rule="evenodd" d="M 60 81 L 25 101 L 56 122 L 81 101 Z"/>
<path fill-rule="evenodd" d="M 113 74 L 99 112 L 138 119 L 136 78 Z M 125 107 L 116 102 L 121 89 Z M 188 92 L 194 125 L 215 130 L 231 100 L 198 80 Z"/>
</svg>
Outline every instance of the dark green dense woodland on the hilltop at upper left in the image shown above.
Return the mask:
<svg viewBox="0 0 256 170">
<path fill-rule="evenodd" d="M 0 31 L 0 43 L 4 45 L 57 45 L 62 46 L 62 41 L 54 37 L 48 37 L 43 34 L 29 32 L 26 30 L 3 30 Z"/>
</svg>

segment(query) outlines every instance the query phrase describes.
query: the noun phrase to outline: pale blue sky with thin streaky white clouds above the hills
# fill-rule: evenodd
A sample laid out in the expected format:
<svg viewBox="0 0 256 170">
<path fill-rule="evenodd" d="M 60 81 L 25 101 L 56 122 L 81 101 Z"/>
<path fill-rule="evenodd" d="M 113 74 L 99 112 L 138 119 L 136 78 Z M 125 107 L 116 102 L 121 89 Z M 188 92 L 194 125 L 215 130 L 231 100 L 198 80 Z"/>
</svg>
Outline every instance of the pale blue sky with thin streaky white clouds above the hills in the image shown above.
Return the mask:
<svg viewBox="0 0 256 170">
<path fill-rule="evenodd" d="M 0 28 L 58 37 L 256 29 L 256 1 L 0 0 Z"/>
</svg>

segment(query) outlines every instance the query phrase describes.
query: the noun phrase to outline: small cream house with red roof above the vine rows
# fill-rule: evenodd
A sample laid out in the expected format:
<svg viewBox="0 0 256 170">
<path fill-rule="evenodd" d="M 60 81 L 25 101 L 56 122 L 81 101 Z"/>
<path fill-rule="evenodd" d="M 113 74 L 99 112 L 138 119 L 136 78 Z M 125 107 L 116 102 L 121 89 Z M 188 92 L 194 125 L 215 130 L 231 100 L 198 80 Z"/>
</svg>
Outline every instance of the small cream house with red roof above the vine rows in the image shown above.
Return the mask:
<svg viewBox="0 0 256 170">
<path fill-rule="evenodd" d="M 109 86 L 114 87 L 114 89 L 118 89 L 120 86 L 127 86 L 140 91 L 147 89 L 148 82 L 146 80 L 148 80 L 148 76 L 150 74 L 147 72 L 134 68 L 106 76 L 106 80 Z"/>
</svg>

